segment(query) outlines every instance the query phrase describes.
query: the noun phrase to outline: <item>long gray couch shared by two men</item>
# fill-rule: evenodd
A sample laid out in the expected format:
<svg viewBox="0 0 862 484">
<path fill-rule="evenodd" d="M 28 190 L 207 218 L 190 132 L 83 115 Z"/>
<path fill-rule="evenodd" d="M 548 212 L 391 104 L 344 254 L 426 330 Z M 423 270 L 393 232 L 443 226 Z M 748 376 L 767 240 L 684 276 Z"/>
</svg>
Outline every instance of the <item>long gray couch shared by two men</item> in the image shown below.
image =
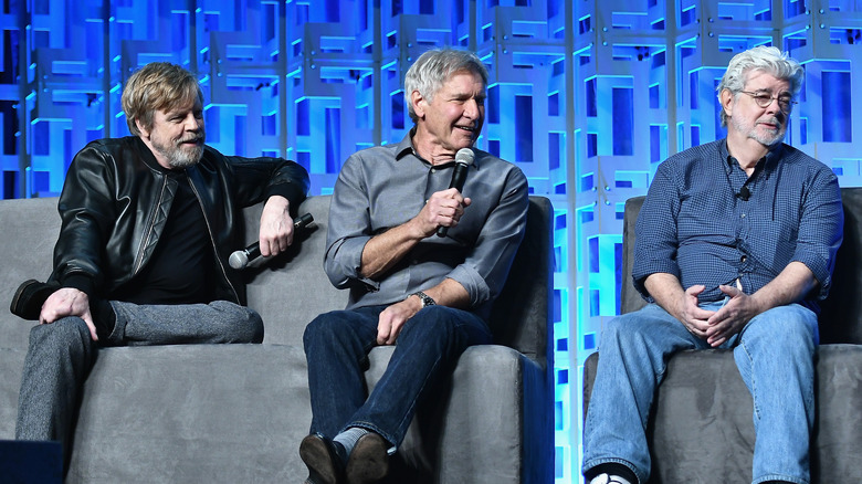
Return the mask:
<svg viewBox="0 0 862 484">
<path fill-rule="evenodd" d="M 298 443 L 311 408 L 302 334 L 346 293 L 323 272 L 329 197 L 301 213 L 316 229 L 294 249 L 248 270 L 263 345 L 120 347 L 99 351 L 84 391 L 66 482 L 299 482 Z M 260 208 L 246 210 L 246 239 Z M 419 409 L 393 463 L 393 482 L 550 483 L 554 480 L 549 341 L 553 208 L 532 197 L 527 238 L 494 313 L 500 345 L 470 348 L 451 391 Z M 44 280 L 59 231 L 56 199 L 0 202 L 0 301 Z M 0 315 L 0 439 L 12 439 L 32 323 Z M 379 379 L 392 348 L 376 348 Z"/>
</svg>

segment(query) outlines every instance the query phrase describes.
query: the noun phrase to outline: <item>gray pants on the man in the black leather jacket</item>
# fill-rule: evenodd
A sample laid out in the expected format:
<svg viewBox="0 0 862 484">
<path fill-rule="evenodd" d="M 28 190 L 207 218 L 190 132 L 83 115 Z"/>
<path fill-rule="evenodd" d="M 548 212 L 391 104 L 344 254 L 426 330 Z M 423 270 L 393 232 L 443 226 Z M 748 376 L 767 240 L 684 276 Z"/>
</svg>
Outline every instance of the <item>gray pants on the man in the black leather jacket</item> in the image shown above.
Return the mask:
<svg viewBox="0 0 862 484">
<path fill-rule="evenodd" d="M 80 317 L 65 317 L 30 330 L 18 398 L 18 440 L 63 443 L 66 460 L 81 389 L 98 346 L 261 343 L 263 320 L 252 309 L 225 301 L 189 305 L 111 302 L 117 315 L 107 341 L 93 341 Z"/>
</svg>

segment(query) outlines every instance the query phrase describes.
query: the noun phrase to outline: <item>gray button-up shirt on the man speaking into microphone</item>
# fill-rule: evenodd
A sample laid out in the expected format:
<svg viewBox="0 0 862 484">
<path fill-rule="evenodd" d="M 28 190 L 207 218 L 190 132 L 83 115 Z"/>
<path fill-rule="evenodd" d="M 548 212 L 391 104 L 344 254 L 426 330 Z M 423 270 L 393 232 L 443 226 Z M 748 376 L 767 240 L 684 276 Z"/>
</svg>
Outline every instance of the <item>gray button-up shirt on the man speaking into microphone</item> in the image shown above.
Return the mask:
<svg viewBox="0 0 862 484">
<path fill-rule="evenodd" d="M 398 145 L 364 149 L 345 161 L 333 192 L 324 269 L 350 290 L 347 308 L 393 304 L 446 277 L 470 294 L 487 318 L 524 238 L 527 178 L 515 165 L 474 149 L 462 193 L 472 200 L 444 238 L 421 241 L 379 281 L 359 274 L 365 244 L 416 217 L 433 192 L 445 190 L 454 162 L 432 166 L 417 156 L 411 134 Z"/>
</svg>

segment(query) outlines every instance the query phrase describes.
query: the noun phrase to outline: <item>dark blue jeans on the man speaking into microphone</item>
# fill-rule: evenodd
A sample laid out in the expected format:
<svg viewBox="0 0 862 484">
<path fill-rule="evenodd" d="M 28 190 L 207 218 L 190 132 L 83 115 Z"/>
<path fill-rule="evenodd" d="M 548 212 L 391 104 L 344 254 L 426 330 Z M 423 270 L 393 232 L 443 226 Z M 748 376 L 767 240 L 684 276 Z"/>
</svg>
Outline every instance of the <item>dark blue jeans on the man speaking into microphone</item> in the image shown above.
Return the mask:
<svg viewBox="0 0 862 484">
<path fill-rule="evenodd" d="M 428 306 L 398 335 L 383 376 L 368 393 L 365 370 L 377 346 L 377 322 L 387 306 L 334 311 L 305 328 L 312 432 L 334 438 L 349 427 L 379 433 L 398 446 L 417 406 L 451 375 L 472 345 L 491 343 L 487 324 L 466 311 Z"/>
</svg>

